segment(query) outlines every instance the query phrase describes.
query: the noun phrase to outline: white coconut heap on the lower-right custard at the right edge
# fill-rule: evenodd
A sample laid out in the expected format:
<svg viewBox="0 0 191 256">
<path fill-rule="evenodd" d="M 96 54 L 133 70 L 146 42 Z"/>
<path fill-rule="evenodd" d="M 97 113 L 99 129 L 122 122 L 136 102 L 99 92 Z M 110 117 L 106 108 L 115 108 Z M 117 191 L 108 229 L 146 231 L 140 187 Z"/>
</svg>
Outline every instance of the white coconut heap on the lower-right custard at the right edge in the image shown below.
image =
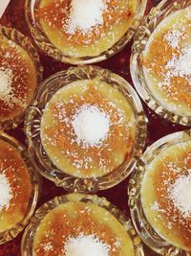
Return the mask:
<svg viewBox="0 0 191 256">
<path fill-rule="evenodd" d="M 189 175 L 180 175 L 170 186 L 169 198 L 173 200 L 183 218 L 191 217 L 191 170 Z"/>
</svg>

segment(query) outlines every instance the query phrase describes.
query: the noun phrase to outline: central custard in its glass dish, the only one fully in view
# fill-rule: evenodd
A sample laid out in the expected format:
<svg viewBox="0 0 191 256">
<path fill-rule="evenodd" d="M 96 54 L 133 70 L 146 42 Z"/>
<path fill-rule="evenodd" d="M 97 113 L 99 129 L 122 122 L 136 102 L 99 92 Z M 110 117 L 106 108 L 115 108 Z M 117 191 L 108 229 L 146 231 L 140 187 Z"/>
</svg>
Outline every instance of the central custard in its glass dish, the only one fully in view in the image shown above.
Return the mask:
<svg viewBox="0 0 191 256">
<path fill-rule="evenodd" d="M 53 168 L 47 162 L 63 178 L 70 175 L 81 180 L 98 181 L 104 176 L 104 182 L 112 182 L 132 171 L 135 155 L 144 144 L 145 121 L 138 97 L 126 81 L 96 67 L 71 68 L 67 74 L 57 73 L 45 81 L 36 103 L 42 113 L 36 116 L 39 111 L 31 108 L 26 131 L 33 149 L 43 147 L 43 154 L 34 153 L 44 162 L 49 178 Z M 39 119 L 35 129 L 33 119 Z M 32 158 L 36 162 L 35 155 Z M 45 172 L 42 174 L 47 175 Z"/>
</svg>

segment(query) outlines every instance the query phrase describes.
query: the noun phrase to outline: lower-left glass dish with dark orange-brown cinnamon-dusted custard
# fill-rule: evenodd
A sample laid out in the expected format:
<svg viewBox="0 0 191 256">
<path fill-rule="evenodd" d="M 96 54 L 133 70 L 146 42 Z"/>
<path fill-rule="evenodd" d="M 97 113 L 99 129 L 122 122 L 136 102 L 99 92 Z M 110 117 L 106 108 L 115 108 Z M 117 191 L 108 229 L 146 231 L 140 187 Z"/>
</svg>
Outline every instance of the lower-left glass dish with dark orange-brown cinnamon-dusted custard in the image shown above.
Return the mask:
<svg viewBox="0 0 191 256">
<path fill-rule="evenodd" d="M 20 179 L 25 177 L 24 180 L 22 180 L 22 183 L 25 184 L 23 186 L 22 184 L 22 191 L 24 191 L 25 195 L 17 195 L 17 199 L 23 198 L 22 203 L 16 202 L 16 201 L 10 201 L 10 206 L 5 211 L 4 207 L 2 208 L 1 205 L 1 218 L 3 219 L 3 223 L 1 223 L 1 232 L 0 232 L 0 244 L 4 244 L 6 242 L 11 241 L 14 239 L 22 230 L 25 228 L 25 226 L 29 223 L 32 214 L 35 210 L 37 199 L 38 199 L 38 193 L 39 193 L 39 175 L 37 172 L 35 172 L 32 162 L 29 158 L 29 154 L 27 149 L 21 145 L 17 140 L 15 140 L 13 137 L 8 135 L 7 133 L 0 131 L 0 140 L 1 140 L 1 166 L 0 166 L 0 175 L 1 175 L 1 186 L 4 188 L 1 193 L 4 195 L 3 201 L 6 200 L 7 195 L 7 186 L 5 186 L 5 177 L 6 175 L 9 175 L 7 178 L 11 180 L 11 187 L 9 191 L 12 195 L 12 189 L 19 192 L 20 187 L 17 187 L 20 183 Z M 6 151 L 3 151 L 3 149 L 6 149 Z M 9 152 L 10 151 L 10 152 Z M 6 156 L 10 153 L 9 163 L 7 165 Z M 7 166 L 7 169 L 4 169 L 4 165 Z M 11 167 L 12 165 L 12 167 Z M 15 169 L 15 165 L 17 165 L 17 169 Z M 14 174 L 11 174 L 12 170 L 11 168 L 14 168 Z M 26 169 L 26 174 L 24 171 Z M 20 171 L 19 171 L 20 170 Z M 16 175 L 17 174 L 17 175 Z M 14 177 L 16 175 L 16 177 Z M 18 179 L 18 184 L 15 183 L 16 178 Z M 31 183 L 31 184 L 30 184 Z M 17 185 L 16 185 L 17 184 Z M 30 184 L 30 185 L 29 185 Z M 25 187 L 28 186 L 29 187 Z M 16 195 L 16 194 L 15 194 Z M 28 201 L 25 201 L 28 199 Z M 2 203 L 2 201 L 1 201 Z M 16 204 L 17 203 L 17 204 Z M 15 205 L 15 206 L 14 206 Z M 12 212 L 13 211 L 13 212 Z M 20 217 L 22 215 L 22 218 Z M 17 220 L 20 220 L 16 222 Z M 2 220 L 1 220 L 2 221 Z M 13 226 L 12 226 L 13 225 Z M 9 226 L 9 227 L 8 227 Z"/>
</svg>

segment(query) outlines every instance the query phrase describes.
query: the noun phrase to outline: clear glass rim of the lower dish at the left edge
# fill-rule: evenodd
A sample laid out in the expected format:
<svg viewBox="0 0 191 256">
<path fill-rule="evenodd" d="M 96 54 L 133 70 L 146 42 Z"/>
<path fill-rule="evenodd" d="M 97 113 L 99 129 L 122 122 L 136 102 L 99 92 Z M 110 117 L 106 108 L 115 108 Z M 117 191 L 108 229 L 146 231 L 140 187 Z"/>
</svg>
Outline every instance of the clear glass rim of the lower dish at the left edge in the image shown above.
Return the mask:
<svg viewBox="0 0 191 256">
<path fill-rule="evenodd" d="M 9 143 L 11 147 L 13 147 L 16 151 L 20 153 L 28 168 L 32 183 L 31 198 L 29 200 L 28 209 L 26 211 L 24 219 L 18 222 L 15 226 L 12 226 L 11 229 L 0 232 L 0 244 L 4 244 L 6 242 L 9 242 L 13 238 L 15 238 L 20 232 L 22 232 L 32 218 L 39 195 L 39 175 L 37 172 L 35 172 L 29 157 L 29 153 L 22 144 L 20 144 L 16 139 L 3 131 L 0 131 L 0 139 Z"/>
</svg>

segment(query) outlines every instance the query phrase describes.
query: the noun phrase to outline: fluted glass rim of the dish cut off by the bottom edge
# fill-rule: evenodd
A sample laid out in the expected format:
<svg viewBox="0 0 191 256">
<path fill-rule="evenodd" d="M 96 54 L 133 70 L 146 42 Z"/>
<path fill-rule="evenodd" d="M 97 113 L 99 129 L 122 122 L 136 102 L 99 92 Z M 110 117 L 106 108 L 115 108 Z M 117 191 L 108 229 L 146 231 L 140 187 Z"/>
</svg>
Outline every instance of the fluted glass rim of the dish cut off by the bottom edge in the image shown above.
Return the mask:
<svg viewBox="0 0 191 256">
<path fill-rule="evenodd" d="M 44 217 L 52 211 L 55 207 L 64 204 L 69 201 L 74 202 L 83 202 L 83 203 L 93 203 L 99 207 L 104 208 L 109 213 L 111 213 L 117 221 L 123 226 L 125 231 L 128 233 L 130 238 L 132 239 L 132 243 L 135 249 L 135 256 L 144 256 L 144 251 L 142 248 L 142 244 L 136 231 L 133 228 L 133 225 L 130 220 L 128 220 L 124 214 L 117 209 L 115 205 L 109 202 L 106 198 L 98 198 L 96 195 L 83 195 L 83 194 L 68 194 L 65 196 L 60 196 L 53 198 L 52 200 L 44 203 L 34 214 L 31 223 L 25 230 L 23 235 L 22 243 L 21 243 L 21 253 L 22 256 L 32 256 L 32 245 L 33 239 L 35 236 L 36 229 L 40 224 L 40 221 L 44 219 Z"/>
</svg>

